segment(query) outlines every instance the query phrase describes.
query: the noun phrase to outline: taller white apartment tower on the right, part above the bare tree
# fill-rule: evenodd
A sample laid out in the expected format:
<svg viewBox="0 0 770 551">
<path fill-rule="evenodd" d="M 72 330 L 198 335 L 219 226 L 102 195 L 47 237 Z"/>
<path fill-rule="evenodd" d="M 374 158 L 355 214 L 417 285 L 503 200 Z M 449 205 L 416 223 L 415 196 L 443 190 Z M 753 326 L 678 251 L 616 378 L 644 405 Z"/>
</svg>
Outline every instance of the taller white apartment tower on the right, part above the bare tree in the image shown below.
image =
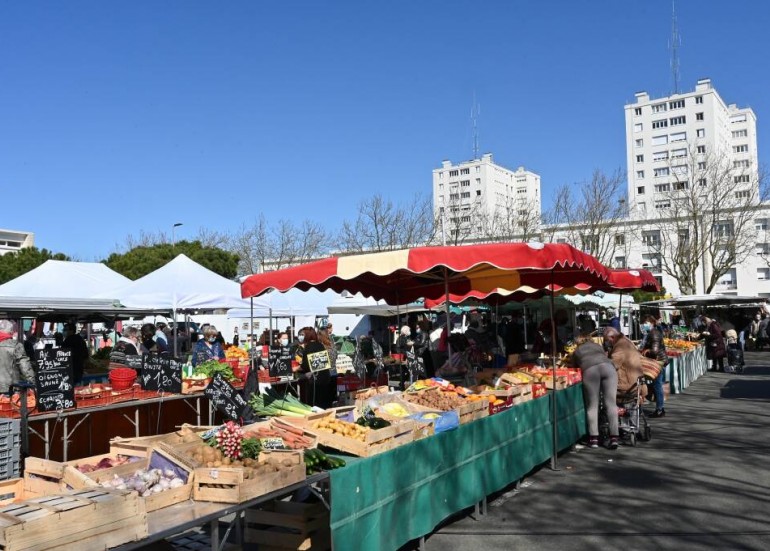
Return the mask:
<svg viewBox="0 0 770 551">
<path fill-rule="evenodd" d="M 710 79 L 699 80 L 692 92 L 664 98 L 638 92 L 625 114 L 632 216 L 644 219 L 666 208 L 672 190 L 697 185 L 698 169 L 705 172 L 716 160 L 736 169 L 737 187 L 756 183 L 754 112 L 726 104 Z"/>
</svg>

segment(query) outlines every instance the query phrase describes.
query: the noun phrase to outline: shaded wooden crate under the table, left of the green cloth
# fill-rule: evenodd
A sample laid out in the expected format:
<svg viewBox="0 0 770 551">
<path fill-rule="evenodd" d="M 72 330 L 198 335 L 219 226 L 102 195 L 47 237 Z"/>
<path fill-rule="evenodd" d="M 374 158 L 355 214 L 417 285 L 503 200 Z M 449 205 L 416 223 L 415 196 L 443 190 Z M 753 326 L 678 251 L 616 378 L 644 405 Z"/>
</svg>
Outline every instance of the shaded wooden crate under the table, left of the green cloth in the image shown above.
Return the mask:
<svg viewBox="0 0 770 551">
<path fill-rule="evenodd" d="M 260 550 L 331 549 L 329 511 L 321 503 L 275 500 L 247 509 L 243 537 Z"/>
</svg>

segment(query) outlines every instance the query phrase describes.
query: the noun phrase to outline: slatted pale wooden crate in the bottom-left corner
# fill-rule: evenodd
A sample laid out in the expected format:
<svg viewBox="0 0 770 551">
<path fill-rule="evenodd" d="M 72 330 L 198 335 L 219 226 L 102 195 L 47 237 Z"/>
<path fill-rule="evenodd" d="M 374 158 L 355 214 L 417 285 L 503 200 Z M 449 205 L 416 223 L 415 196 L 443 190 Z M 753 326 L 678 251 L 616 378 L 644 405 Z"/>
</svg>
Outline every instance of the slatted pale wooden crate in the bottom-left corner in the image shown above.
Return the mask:
<svg viewBox="0 0 770 551">
<path fill-rule="evenodd" d="M 101 551 L 146 537 L 136 492 L 70 490 L 0 507 L 3 551 Z"/>
</svg>

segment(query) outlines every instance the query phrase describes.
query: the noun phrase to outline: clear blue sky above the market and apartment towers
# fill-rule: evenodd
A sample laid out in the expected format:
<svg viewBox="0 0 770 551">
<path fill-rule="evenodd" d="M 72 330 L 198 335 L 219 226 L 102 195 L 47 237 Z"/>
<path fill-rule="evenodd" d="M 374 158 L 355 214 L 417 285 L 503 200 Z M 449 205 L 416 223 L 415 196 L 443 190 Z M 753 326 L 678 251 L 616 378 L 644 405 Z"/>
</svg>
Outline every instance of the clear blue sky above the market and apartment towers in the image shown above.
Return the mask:
<svg viewBox="0 0 770 551">
<path fill-rule="evenodd" d="M 682 88 L 751 106 L 768 164 L 770 2 L 677 12 Z M 474 94 L 481 151 L 547 206 L 625 169 L 623 105 L 670 93 L 670 32 L 669 0 L 3 2 L 0 227 L 88 261 L 175 222 L 336 230 L 471 158 Z"/>
</svg>

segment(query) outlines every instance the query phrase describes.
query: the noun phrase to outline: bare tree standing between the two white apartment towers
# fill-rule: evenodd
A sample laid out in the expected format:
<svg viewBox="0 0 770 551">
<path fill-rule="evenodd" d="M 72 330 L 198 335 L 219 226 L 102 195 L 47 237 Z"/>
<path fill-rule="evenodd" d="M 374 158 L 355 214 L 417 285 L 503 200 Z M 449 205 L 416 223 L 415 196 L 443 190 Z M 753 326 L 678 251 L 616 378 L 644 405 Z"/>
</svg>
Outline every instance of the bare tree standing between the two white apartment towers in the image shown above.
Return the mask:
<svg viewBox="0 0 770 551">
<path fill-rule="evenodd" d="M 553 207 L 545 215 L 543 239 L 563 239 L 603 264 L 612 264 L 626 241 L 621 233 L 628 218 L 625 173 L 618 169 L 607 175 L 595 170 L 590 181 L 577 186 L 576 192 L 567 184 L 556 190 Z"/>
</svg>

